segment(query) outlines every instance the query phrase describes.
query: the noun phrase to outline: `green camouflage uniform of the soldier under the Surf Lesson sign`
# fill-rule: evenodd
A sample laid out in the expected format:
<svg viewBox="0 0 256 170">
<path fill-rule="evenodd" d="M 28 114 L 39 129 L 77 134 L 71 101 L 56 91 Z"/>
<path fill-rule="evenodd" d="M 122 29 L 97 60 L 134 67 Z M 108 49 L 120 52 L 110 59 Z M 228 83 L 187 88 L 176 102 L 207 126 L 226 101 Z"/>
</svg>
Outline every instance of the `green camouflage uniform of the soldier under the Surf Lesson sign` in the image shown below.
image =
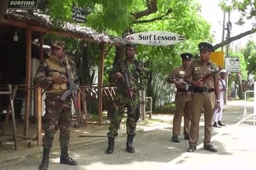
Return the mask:
<svg viewBox="0 0 256 170">
<path fill-rule="evenodd" d="M 130 135 L 136 134 L 136 122 L 139 120 L 139 90 L 143 90 L 146 86 L 146 76 L 144 68 L 140 61 L 118 61 L 114 68 L 110 72 L 110 82 L 114 81 L 114 74 L 120 72 L 123 74 L 125 71 L 130 80 L 130 86 L 133 87 L 133 112 L 130 105 L 130 99 L 126 93 L 126 83 L 124 80 L 118 80 L 117 94 L 115 97 L 114 108 L 109 112 L 110 128 L 107 133 L 108 137 L 116 137 L 120 122 L 122 121 L 123 114 L 127 108 L 127 120 L 126 120 L 126 133 Z M 125 77 L 125 74 L 123 74 Z"/>
</svg>

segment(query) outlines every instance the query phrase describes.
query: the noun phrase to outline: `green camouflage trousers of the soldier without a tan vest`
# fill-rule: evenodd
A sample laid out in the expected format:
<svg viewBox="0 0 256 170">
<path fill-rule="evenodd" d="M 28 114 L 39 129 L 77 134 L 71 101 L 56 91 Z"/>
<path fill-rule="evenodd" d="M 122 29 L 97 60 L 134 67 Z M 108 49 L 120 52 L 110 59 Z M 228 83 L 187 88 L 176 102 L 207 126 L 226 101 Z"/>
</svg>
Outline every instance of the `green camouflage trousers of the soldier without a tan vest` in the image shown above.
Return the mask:
<svg viewBox="0 0 256 170">
<path fill-rule="evenodd" d="M 114 103 L 113 109 L 110 109 L 110 127 L 107 137 L 117 137 L 120 123 L 123 119 L 125 109 L 127 108 L 126 134 L 136 135 L 136 123 L 139 120 L 139 99 L 133 101 L 133 111 L 130 103 Z"/>
</svg>

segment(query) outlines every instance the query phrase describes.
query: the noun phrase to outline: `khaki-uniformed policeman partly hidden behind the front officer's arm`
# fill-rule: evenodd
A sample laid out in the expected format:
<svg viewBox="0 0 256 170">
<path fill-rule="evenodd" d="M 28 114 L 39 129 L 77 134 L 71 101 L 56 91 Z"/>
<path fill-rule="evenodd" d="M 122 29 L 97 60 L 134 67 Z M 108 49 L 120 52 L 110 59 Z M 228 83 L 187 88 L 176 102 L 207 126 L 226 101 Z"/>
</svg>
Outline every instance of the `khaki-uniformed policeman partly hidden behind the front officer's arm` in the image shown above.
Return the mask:
<svg viewBox="0 0 256 170">
<path fill-rule="evenodd" d="M 190 65 L 193 55 L 190 53 L 182 53 L 182 66 L 174 68 L 171 71 L 167 81 L 174 83 L 176 86 L 175 95 L 175 115 L 173 118 L 172 137 L 171 141 L 179 143 L 181 133 L 181 118 L 184 115 L 184 140 L 189 140 L 190 120 L 191 120 L 191 90 L 189 84 L 184 82 L 184 75 Z"/>
</svg>

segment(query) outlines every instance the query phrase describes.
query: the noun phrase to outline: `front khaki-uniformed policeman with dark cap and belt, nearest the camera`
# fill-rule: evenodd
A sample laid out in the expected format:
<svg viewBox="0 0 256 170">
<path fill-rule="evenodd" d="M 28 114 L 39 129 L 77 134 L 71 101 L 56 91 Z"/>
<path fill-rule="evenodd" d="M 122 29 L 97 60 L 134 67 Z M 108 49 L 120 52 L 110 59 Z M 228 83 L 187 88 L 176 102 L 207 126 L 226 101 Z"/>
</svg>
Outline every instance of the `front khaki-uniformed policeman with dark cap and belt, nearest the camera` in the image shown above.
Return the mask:
<svg viewBox="0 0 256 170">
<path fill-rule="evenodd" d="M 187 152 L 197 150 L 199 139 L 199 123 L 202 110 L 204 110 L 204 150 L 217 152 L 211 143 L 212 120 L 214 108 L 219 111 L 219 73 L 213 61 L 210 61 L 210 52 L 213 46 L 208 42 L 199 43 L 200 60 L 192 61 L 184 79 L 194 86 L 192 98 L 192 119 L 190 126 L 190 140 Z M 191 77 L 191 79 L 190 79 Z"/>
</svg>

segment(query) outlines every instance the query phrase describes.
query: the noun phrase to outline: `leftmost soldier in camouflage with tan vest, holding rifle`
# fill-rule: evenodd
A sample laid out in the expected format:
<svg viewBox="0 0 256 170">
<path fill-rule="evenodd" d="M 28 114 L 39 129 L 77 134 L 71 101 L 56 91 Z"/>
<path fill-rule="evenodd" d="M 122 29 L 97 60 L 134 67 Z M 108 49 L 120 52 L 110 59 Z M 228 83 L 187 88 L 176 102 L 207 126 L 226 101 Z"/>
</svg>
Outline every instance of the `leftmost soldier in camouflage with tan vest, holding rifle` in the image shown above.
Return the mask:
<svg viewBox="0 0 256 170">
<path fill-rule="evenodd" d="M 50 148 L 53 145 L 53 138 L 59 128 L 59 143 L 61 146 L 60 163 L 77 165 L 78 162 L 69 157 L 68 146 L 70 137 L 70 125 L 72 121 L 72 101 L 67 97 L 64 101 L 60 98 L 68 90 L 67 77 L 63 60 L 66 60 L 72 78 L 75 74 L 75 63 L 65 57 L 64 45 L 62 42 L 55 42 L 51 46 L 51 55 L 44 59 L 34 77 L 34 84 L 40 86 L 46 92 L 46 113 L 43 116 L 43 160 L 40 170 L 47 169 L 49 164 Z"/>
</svg>

